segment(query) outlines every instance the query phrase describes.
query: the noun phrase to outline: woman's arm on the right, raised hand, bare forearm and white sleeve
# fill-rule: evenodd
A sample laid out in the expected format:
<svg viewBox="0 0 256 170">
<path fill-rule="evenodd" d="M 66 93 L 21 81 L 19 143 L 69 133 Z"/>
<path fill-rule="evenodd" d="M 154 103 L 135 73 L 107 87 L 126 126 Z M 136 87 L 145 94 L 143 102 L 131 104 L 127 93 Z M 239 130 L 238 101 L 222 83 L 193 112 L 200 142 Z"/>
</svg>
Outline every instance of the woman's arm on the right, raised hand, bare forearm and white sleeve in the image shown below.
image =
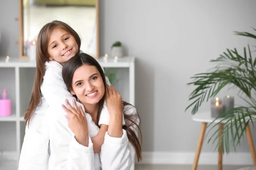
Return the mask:
<svg viewBox="0 0 256 170">
<path fill-rule="evenodd" d="M 134 162 L 134 148 L 127 132 L 122 129 L 122 96 L 113 86 L 108 86 L 106 101 L 111 120 L 101 148 L 102 170 L 129 170 Z M 136 112 L 136 109 L 130 109 L 130 112 Z"/>
</svg>

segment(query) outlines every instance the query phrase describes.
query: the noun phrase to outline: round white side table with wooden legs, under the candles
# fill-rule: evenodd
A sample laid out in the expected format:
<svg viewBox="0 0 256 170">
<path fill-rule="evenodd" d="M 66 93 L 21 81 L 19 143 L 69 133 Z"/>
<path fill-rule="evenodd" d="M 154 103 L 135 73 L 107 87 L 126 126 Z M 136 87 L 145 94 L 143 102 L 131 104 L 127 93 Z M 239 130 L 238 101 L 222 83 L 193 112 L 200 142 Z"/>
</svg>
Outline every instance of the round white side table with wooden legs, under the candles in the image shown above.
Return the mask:
<svg viewBox="0 0 256 170">
<path fill-rule="evenodd" d="M 211 117 L 211 112 L 200 112 L 200 113 L 195 113 L 192 116 L 192 120 L 196 121 L 196 122 L 202 122 L 201 125 L 201 130 L 200 130 L 200 134 L 199 134 L 199 139 L 198 139 L 198 144 L 196 147 L 196 151 L 195 151 L 195 159 L 194 159 L 194 163 L 192 166 L 192 170 L 196 170 L 198 167 L 198 160 L 199 160 L 199 156 L 200 156 L 200 152 L 202 149 L 202 145 L 204 142 L 204 136 L 205 136 L 205 131 L 207 128 L 207 123 L 212 122 L 215 120 L 215 118 Z M 216 119 L 214 122 L 218 123 L 221 122 L 221 118 L 220 119 Z M 222 123 L 219 124 L 219 127 L 223 125 Z M 221 130 L 220 130 L 221 131 Z M 256 153 L 255 153 L 255 149 L 254 149 L 254 145 L 253 145 L 253 139 L 252 139 L 252 135 L 250 132 L 250 126 L 247 125 L 246 127 L 246 136 L 247 136 L 247 140 L 249 143 L 249 147 L 250 147 L 250 152 L 252 154 L 252 158 L 253 158 L 253 164 L 256 167 Z M 219 138 L 221 137 L 221 134 L 219 136 Z M 222 170 L 222 150 L 223 150 L 223 143 L 221 144 L 221 152 L 218 153 L 218 170 Z"/>
</svg>

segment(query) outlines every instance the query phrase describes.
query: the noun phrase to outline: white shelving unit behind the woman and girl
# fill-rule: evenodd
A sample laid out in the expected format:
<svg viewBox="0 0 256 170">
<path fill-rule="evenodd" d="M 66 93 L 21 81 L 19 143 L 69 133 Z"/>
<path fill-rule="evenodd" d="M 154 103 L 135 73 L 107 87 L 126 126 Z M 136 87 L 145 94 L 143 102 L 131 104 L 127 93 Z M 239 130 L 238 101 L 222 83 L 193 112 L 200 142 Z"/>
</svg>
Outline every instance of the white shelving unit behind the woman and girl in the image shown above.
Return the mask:
<svg viewBox="0 0 256 170">
<path fill-rule="evenodd" d="M 2 59 L 1 59 L 2 58 Z M 13 89 L 13 92 L 15 92 L 15 105 L 12 105 L 12 115 L 9 117 L 0 117 L 0 139 L 3 139 L 5 136 L 1 136 L 1 128 L 5 128 L 6 124 L 13 124 L 15 126 L 15 134 L 10 134 L 13 136 L 16 136 L 16 149 L 15 151 L 9 151 L 9 150 L 2 150 L 4 160 L 12 160 L 12 161 L 18 161 L 20 150 L 23 143 L 23 138 L 25 134 L 25 123 L 24 123 L 24 113 L 26 111 L 26 108 L 29 104 L 29 99 L 31 95 L 34 75 L 35 75 L 35 67 L 36 63 L 35 61 L 28 61 L 28 60 L 20 60 L 20 59 L 12 59 L 10 58 L 9 62 L 5 62 L 5 57 L 0 58 L 0 81 L 3 81 L 1 79 L 3 77 L 3 74 L 6 74 L 9 70 L 14 72 L 15 82 L 13 82 L 15 85 L 15 89 Z M 127 69 L 128 70 L 128 77 L 125 77 L 125 79 L 129 79 L 128 89 L 129 92 L 126 93 L 128 96 L 125 96 L 123 98 L 126 98 L 126 101 L 131 103 L 132 105 L 135 105 L 135 70 L 134 70 L 134 57 L 122 57 L 119 58 L 117 62 L 114 61 L 113 58 L 108 57 L 108 60 L 105 61 L 103 57 L 98 59 L 98 62 L 100 65 L 102 65 L 103 68 L 120 68 L 120 69 Z M 13 70 L 14 69 L 14 70 Z M 1 77 L 2 76 L 2 77 Z M 11 80 L 10 80 L 11 81 Z M 12 84 L 12 82 L 10 82 Z M 8 85 L 8 84 L 7 84 Z M 1 90 L 1 87 L 0 87 Z M 2 92 L 0 91 L 0 94 Z M 122 91 L 120 91 L 122 94 Z M 3 126 L 1 126 L 1 124 Z M 12 125 L 8 126 L 12 127 Z M 13 127 L 12 127 L 13 128 Z M 5 129 L 3 129 L 5 130 Z M 9 144 L 10 141 L 8 139 L 4 139 L 6 142 L 6 145 Z M 1 148 L 0 148 L 1 149 Z M 1 151 L 1 150 L 0 150 Z M 13 163 L 12 163 L 13 164 Z M 131 170 L 134 170 L 134 165 L 131 168 Z"/>
</svg>

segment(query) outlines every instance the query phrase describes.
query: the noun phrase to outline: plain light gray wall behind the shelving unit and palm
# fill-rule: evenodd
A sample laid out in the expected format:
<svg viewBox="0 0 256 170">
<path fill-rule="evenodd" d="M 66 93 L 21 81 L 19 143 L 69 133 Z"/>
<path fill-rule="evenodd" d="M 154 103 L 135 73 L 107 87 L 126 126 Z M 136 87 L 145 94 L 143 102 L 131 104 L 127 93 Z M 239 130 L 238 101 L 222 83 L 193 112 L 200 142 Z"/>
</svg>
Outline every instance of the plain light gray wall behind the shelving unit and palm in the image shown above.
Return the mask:
<svg viewBox="0 0 256 170">
<path fill-rule="evenodd" d="M 190 111 L 184 113 L 193 90 L 186 83 L 212 67 L 209 60 L 226 48 L 242 49 L 250 42 L 232 31 L 253 32 L 255 6 L 254 0 L 100 1 L 101 54 L 110 54 L 112 43 L 120 40 L 125 53 L 136 56 L 136 107 L 144 151 L 195 151 L 201 124 L 192 121 Z M 0 56 L 18 57 L 16 9 L 17 0 L 0 2 Z M 220 97 L 227 94 L 236 91 L 221 91 Z M 236 98 L 236 104 L 241 100 Z M 207 110 L 209 104 L 201 107 Z M 214 147 L 205 144 L 203 151 Z M 238 151 L 250 151 L 246 139 Z"/>
</svg>

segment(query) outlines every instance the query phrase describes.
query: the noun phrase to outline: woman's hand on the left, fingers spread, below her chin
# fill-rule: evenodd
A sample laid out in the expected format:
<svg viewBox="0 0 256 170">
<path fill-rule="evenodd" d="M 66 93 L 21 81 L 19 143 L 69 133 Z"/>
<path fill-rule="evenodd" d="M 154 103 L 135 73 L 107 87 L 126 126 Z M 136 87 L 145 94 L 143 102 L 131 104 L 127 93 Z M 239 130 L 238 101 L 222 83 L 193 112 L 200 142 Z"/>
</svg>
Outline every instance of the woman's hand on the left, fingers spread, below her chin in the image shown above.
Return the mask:
<svg viewBox="0 0 256 170">
<path fill-rule="evenodd" d="M 76 141 L 86 147 L 89 145 L 87 119 L 81 106 L 77 108 L 76 101 L 73 100 L 73 106 L 65 100 L 68 109 L 62 105 L 63 110 L 67 113 L 68 127 L 76 135 Z"/>
</svg>

